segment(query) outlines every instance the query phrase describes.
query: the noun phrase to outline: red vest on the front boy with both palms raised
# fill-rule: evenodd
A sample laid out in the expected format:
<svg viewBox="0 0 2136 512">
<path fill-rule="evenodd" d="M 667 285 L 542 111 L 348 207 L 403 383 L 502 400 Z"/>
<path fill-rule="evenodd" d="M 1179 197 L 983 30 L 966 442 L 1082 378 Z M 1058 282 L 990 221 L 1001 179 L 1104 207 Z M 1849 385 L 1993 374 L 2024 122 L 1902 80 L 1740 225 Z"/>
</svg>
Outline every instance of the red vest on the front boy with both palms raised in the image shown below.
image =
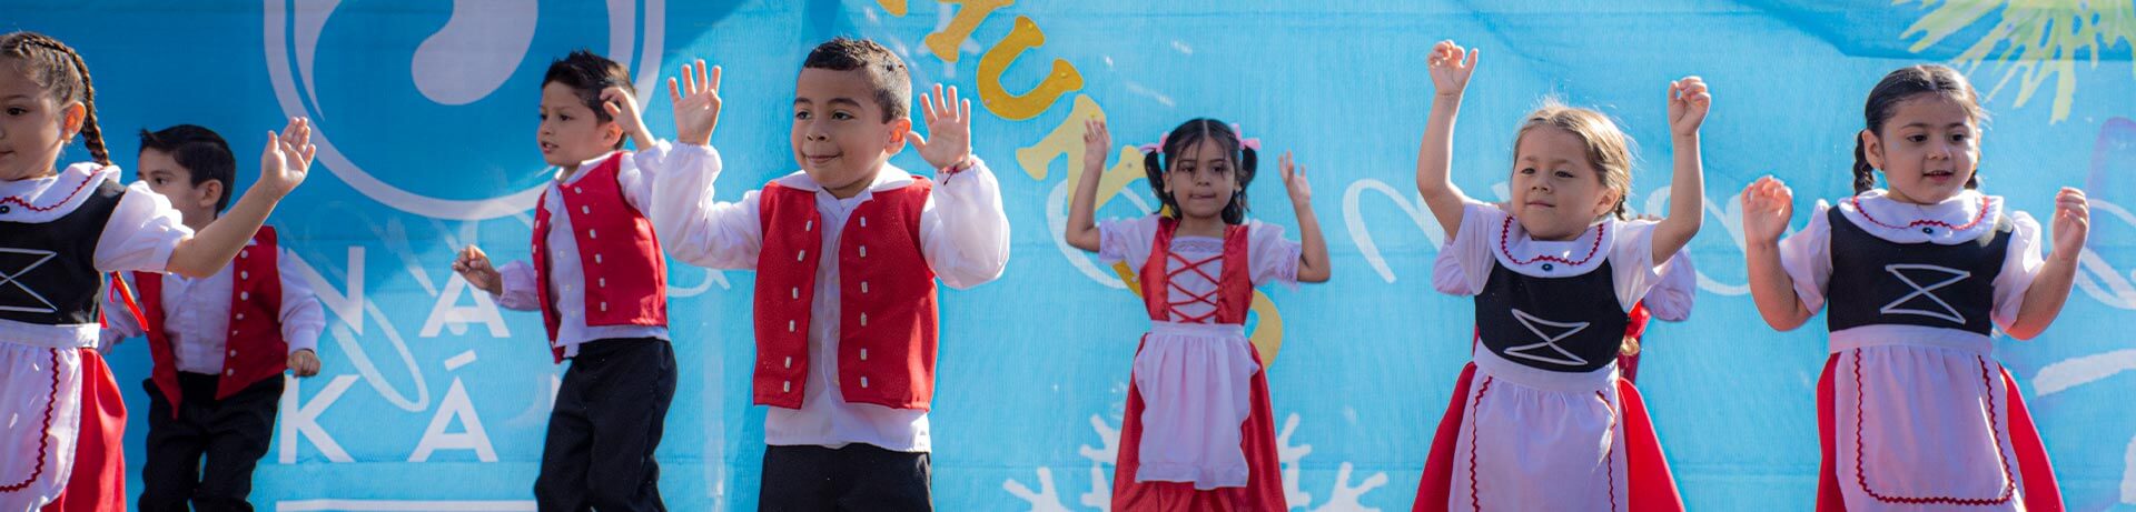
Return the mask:
<svg viewBox="0 0 2136 512">
<path fill-rule="evenodd" d="M 933 183 L 912 177 L 852 209 L 837 237 L 837 382 L 850 403 L 927 410 L 933 399 L 936 282 L 921 254 L 921 207 Z M 799 410 L 807 388 L 810 301 L 822 258 L 816 192 L 771 181 L 758 196 L 756 403 Z"/>
</svg>

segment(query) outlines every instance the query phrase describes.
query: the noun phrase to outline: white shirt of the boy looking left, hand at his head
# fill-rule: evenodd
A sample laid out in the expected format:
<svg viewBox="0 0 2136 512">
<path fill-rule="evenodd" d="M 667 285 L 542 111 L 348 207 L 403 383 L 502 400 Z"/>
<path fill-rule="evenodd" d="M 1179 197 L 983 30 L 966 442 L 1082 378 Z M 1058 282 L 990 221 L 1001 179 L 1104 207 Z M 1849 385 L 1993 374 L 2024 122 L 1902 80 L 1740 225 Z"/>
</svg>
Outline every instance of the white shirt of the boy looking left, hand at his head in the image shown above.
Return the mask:
<svg viewBox="0 0 2136 512">
<path fill-rule="evenodd" d="M 585 324 L 585 267 L 579 260 L 579 237 L 572 235 L 570 215 L 564 215 L 564 188 L 577 183 L 598 166 L 609 156 L 585 160 L 570 173 L 557 171 L 555 179 L 549 181 L 549 194 L 543 196 L 545 207 L 553 211 L 549 215 L 549 297 L 555 299 L 557 329 L 555 346 L 564 348 L 564 356 L 577 356 L 579 346 L 594 339 L 637 339 L 637 337 L 658 337 L 669 339 L 666 326 L 590 326 Z M 718 156 L 705 145 L 677 145 L 660 141 L 654 147 L 641 149 L 637 154 L 626 154 L 615 169 L 615 186 L 624 192 L 624 203 L 632 209 L 645 213 L 654 203 L 656 194 L 684 194 L 694 198 L 688 190 L 677 188 L 654 188 L 654 175 L 664 171 L 688 171 L 701 166 L 716 166 Z M 713 171 L 716 173 L 716 171 Z M 540 288 L 536 279 L 538 273 L 532 262 L 515 260 L 498 267 L 498 275 L 504 277 L 504 294 L 498 294 L 498 305 L 519 311 L 540 311 Z"/>
</svg>

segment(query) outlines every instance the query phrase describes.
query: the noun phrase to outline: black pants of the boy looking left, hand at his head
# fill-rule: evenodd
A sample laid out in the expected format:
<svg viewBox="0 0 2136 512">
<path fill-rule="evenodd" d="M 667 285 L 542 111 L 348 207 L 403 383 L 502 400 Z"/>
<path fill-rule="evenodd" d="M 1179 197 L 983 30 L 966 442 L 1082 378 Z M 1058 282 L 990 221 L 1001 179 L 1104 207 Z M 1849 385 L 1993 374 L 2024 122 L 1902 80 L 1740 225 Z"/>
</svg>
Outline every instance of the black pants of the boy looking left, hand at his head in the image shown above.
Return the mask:
<svg viewBox="0 0 2136 512">
<path fill-rule="evenodd" d="M 579 346 L 549 412 L 534 503 L 543 512 L 666 510 L 654 450 L 673 399 L 675 348 L 669 341 Z"/>
</svg>

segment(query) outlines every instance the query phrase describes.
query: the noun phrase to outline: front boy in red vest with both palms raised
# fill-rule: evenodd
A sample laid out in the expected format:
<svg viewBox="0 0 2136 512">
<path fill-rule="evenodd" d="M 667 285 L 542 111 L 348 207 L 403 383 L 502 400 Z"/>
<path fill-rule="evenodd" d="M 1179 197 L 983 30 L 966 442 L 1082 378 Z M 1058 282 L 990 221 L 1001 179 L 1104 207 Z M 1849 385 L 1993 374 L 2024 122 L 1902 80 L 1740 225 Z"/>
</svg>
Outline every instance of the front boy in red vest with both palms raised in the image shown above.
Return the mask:
<svg viewBox="0 0 2136 512">
<path fill-rule="evenodd" d="M 936 369 L 936 279 L 1002 275 L 1008 215 L 972 156 L 972 105 L 923 96 L 912 132 L 906 64 L 874 41 L 810 51 L 792 100 L 801 164 L 739 203 L 711 198 L 711 166 L 662 173 L 654 226 L 669 254 L 756 269 L 756 403 L 765 414 L 760 510 L 929 510 L 927 405 Z M 713 96 L 718 79 L 692 83 Z M 718 102 L 711 102 L 718 109 Z M 906 143 L 933 179 L 886 160 Z"/>
</svg>

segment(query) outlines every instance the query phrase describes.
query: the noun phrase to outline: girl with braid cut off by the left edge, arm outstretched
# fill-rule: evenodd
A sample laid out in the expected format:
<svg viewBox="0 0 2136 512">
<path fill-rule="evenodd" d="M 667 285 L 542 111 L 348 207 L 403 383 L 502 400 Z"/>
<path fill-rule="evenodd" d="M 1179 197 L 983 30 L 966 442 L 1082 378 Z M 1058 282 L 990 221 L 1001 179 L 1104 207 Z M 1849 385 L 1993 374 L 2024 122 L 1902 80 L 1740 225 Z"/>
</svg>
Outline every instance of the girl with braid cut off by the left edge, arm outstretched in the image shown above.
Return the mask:
<svg viewBox="0 0 2136 512">
<path fill-rule="evenodd" d="M 56 169 L 81 137 L 92 162 Z M 267 134 L 261 181 L 199 233 L 145 183 L 120 186 L 81 55 L 0 36 L 0 512 L 126 510 L 126 405 L 96 354 L 107 273 L 207 277 L 312 164 L 310 124 Z"/>
</svg>

